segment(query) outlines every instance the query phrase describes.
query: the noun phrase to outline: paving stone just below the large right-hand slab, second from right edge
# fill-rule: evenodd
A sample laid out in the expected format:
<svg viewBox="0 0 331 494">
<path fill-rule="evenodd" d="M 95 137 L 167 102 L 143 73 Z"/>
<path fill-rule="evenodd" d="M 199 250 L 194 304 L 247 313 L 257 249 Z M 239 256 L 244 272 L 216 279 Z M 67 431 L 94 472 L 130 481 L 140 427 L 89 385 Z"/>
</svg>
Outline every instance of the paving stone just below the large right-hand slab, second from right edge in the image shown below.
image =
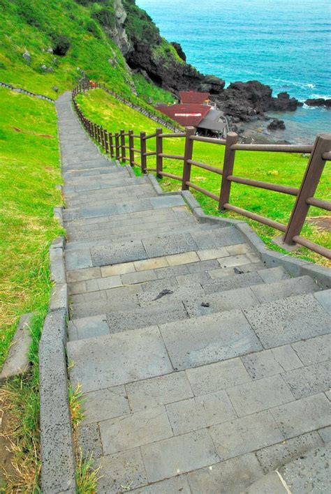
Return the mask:
<svg viewBox="0 0 331 494">
<path fill-rule="evenodd" d="M 261 379 L 303 365 L 290 345 L 244 355 L 242 361 L 252 379 Z"/>
</svg>

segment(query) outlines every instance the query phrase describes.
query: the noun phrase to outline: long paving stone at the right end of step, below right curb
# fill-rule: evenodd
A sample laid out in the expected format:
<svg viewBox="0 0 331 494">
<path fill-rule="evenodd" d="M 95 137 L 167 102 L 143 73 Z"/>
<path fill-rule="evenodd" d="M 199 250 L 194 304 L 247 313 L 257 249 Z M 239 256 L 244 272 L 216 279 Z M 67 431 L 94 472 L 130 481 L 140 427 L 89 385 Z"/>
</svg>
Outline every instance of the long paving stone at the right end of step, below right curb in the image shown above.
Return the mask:
<svg viewBox="0 0 331 494">
<path fill-rule="evenodd" d="M 293 295 L 316 292 L 319 288 L 309 276 L 302 276 L 301 278 L 281 280 L 269 285 L 258 285 L 252 287 L 251 290 L 263 304 L 264 302 L 285 299 Z"/>
</svg>

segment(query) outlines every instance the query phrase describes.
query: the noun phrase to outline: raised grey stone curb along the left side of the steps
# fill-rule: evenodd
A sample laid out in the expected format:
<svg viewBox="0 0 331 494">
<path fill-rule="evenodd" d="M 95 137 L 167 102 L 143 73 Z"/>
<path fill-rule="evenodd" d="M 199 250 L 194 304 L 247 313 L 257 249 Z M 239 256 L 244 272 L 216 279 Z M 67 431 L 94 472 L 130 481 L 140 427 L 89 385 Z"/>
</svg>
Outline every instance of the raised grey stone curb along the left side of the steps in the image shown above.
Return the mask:
<svg viewBox="0 0 331 494">
<path fill-rule="evenodd" d="M 60 208 L 61 209 L 61 208 Z M 55 282 L 39 344 L 41 394 L 41 488 L 45 494 L 75 493 L 75 454 L 66 361 L 68 285 L 64 237 L 50 246 Z"/>
</svg>

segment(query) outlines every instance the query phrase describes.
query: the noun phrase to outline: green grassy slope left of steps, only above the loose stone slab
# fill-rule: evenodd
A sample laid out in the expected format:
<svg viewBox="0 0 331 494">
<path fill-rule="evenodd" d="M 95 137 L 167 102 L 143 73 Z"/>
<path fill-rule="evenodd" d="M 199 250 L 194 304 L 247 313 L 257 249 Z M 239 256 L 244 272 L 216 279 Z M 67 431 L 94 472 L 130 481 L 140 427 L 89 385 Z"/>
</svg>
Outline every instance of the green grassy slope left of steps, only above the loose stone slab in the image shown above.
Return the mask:
<svg viewBox="0 0 331 494">
<path fill-rule="evenodd" d="M 1 366 L 17 317 L 47 309 L 61 177 L 54 105 L 7 89 L 0 102 Z"/>
</svg>

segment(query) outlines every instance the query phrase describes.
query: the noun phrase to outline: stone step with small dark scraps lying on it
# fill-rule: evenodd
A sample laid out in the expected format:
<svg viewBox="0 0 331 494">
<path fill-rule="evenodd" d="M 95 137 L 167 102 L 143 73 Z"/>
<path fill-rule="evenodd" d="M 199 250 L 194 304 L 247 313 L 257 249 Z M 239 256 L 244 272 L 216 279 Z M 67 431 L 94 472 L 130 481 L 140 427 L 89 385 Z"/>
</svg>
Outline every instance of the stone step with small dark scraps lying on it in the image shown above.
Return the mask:
<svg viewBox="0 0 331 494">
<path fill-rule="evenodd" d="M 188 277 L 190 276 L 197 276 L 197 274 L 188 275 Z M 258 306 L 263 303 L 265 301 L 265 289 L 269 289 L 269 297 L 267 297 L 269 301 L 316 291 L 316 285 L 307 276 L 295 280 L 282 280 L 267 286 L 263 284 L 261 278 L 258 281 L 256 277 L 255 280 L 251 280 L 251 284 L 247 287 L 223 290 L 223 292 L 208 295 L 198 283 L 192 282 L 187 287 L 175 287 L 170 280 L 171 278 L 168 278 L 168 280 L 157 282 L 161 283 L 163 287 L 168 286 L 170 288 L 163 288 L 159 293 L 157 290 L 152 292 L 137 290 L 137 293 L 131 292 L 126 297 L 125 302 L 123 302 L 122 297 L 118 298 L 118 289 L 117 297 L 112 297 L 112 290 L 110 289 L 107 292 L 107 299 L 100 300 L 100 297 L 96 301 L 90 299 L 89 310 L 87 310 L 87 301 L 83 303 L 76 301 L 72 310 L 72 318 L 76 320 L 89 317 L 89 315 L 105 314 L 109 332 L 114 333 L 145 327 L 149 324 L 161 324 L 157 322 L 158 312 L 167 313 L 169 308 L 172 310 L 174 307 L 182 306 L 181 304 L 184 305 L 189 317 L 219 313 L 221 319 L 221 314 L 226 311 Z M 187 317 L 182 311 L 179 311 L 178 315 L 178 320 Z M 84 331 L 88 333 L 88 327 L 84 326 Z M 94 336 L 93 331 L 91 336 Z"/>
</svg>

